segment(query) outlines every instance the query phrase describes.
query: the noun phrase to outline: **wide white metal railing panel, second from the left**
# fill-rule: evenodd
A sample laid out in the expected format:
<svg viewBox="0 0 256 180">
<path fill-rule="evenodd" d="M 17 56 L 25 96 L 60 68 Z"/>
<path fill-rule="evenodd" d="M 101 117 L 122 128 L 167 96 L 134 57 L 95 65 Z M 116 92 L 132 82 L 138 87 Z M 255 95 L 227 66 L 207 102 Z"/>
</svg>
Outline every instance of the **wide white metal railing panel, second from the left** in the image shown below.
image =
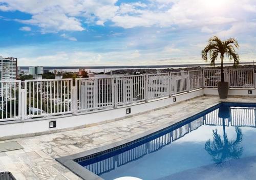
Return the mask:
<svg viewBox="0 0 256 180">
<path fill-rule="evenodd" d="M 25 117 L 72 113 L 72 79 L 25 80 Z"/>
</svg>

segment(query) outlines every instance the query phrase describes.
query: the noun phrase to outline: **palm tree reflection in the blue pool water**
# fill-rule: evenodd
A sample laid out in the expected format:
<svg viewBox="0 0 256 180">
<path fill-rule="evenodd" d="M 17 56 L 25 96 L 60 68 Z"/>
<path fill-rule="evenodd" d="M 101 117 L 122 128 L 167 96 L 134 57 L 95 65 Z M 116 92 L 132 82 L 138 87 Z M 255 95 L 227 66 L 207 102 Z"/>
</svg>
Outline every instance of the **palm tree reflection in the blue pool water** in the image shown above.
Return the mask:
<svg viewBox="0 0 256 180">
<path fill-rule="evenodd" d="M 242 142 L 243 134 L 239 127 L 236 127 L 236 140 L 229 140 L 225 130 L 225 119 L 223 120 L 223 140 L 218 134 L 218 130 L 213 131 L 213 141 L 208 140 L 205 143 L 205 150 L 212 156 L 213 161 L 221 165 L 229 160 L 239 159 L 243 153 L 243 147 L 239 146 Z"/>
</svg>

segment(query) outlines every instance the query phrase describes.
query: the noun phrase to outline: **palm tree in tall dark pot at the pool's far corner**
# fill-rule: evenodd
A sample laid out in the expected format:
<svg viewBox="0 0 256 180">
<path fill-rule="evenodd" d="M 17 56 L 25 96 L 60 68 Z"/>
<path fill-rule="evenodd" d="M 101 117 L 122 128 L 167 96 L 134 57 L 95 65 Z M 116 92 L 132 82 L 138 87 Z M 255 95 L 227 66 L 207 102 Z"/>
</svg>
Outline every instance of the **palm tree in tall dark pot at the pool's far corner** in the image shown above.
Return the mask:
<svg viewBox="0 0 256 180">
<path fill-rule="evenodd" d="M 226 57 L 230 61 L 233 60 L 234 66 L 237 66 L 240 59 L 235 48 L 239 49 L 238 41 L 235 38 L 222 41 L 219 37 L 214 36 L 208 40 L 207 46 L 201 52 L 202 58 L 206 62 L 209 57 L 211 66 L 215 66 L 215 61 L 218 58 L 221 60 L 221 82 L 218 82 L 218 93 L 221 99 L 227 98 L 228 95 L 228 82 L 224 81 L 223 59 Z"/>
</svg>

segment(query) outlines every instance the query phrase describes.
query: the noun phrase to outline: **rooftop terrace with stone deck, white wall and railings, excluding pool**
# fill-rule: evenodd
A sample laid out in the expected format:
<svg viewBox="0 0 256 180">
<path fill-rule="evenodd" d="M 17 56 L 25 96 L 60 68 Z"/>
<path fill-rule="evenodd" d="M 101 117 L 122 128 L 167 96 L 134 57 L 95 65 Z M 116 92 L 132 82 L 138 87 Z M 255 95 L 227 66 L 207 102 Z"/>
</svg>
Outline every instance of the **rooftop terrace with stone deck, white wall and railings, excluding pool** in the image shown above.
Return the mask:
<svg viewBox="0 0 256 180">
<path fill-rule="evenodd" d="M 256 102 L 254 69 L 229 69 L 228 102 Z M 17 179 L 79 179 L 55 159 L 175 124 L 221 102 L 220 70 L 1 81 L 0 172 Z M 235 98 L 233 96 L 236 96 Z M 90 179 L 90 178 L 89 178 Z"/>
</svg>

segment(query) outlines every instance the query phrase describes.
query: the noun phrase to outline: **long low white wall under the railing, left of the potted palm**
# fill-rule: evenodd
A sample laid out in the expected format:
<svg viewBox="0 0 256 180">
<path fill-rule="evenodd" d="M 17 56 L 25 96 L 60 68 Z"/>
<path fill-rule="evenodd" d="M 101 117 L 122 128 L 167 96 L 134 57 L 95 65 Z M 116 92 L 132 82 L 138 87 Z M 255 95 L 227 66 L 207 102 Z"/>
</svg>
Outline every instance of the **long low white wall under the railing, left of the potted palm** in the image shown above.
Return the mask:
<svg viewBox="0 0 256 180">
<path fill-rule="evenodd" d="M 204 89 L 199 89 L 194 92 L 184 93 L 170 98 L 161 98 L 147 103 L 138 103 L 130 106 L 126 105 L 124 107 L 102 110 L 94 113 L 68 115 L 48 119 L 32 119 L 24 122 L 10 122 L 0 125 L 0 140 L 37 136 L 40 134 L 72 130 L 112 122 L 203 95 Z M 174 98 L 176 98 L 176 102 L 174 102 Z M 131 114 L 126 114 L 127 108 L 131 108 Z M 56 121 L 55 128 L 49 128 L 50 121 Z"/>
</svg>

